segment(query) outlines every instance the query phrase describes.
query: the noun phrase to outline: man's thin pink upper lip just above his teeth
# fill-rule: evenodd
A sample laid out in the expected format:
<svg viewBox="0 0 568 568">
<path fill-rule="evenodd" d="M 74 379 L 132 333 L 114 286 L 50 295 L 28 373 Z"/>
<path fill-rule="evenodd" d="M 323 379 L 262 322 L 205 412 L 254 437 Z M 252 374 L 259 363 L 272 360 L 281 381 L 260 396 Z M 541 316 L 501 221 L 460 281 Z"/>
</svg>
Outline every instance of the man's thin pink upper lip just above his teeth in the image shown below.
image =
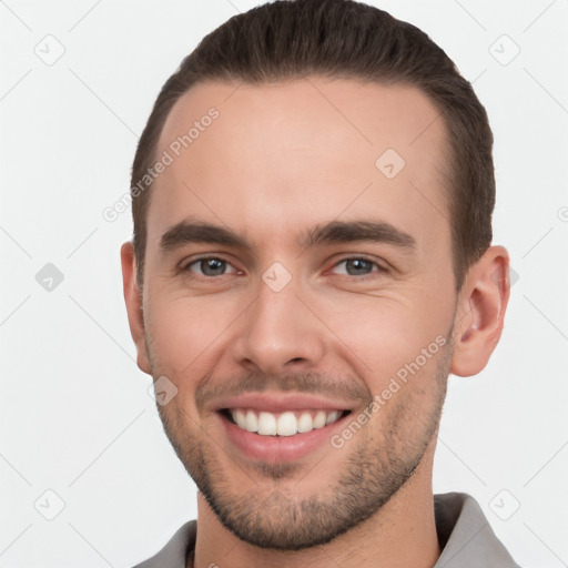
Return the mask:
<svg viewBox="0 0 568 568">
<path fill-rule="evenodd" d="M 300 393 L 247 393 L 220 399 L 213 406 L 217 412 L 227 408 L 251 408 L 268 413 L 308 409 L 351 410 L 353 403 Z"/>
</svg>

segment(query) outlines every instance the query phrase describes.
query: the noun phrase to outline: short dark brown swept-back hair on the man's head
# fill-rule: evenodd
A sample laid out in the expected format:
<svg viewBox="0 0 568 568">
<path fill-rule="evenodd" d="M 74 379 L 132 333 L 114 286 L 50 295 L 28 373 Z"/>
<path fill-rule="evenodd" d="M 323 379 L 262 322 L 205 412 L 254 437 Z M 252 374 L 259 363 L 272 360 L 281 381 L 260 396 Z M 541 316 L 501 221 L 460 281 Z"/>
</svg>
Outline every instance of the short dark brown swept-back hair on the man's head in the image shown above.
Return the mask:
<svg viewBox="0 0 568 568">
<path fill-rule="evenodd" d="M 282 0 L 235 16 L 209 33 L 168 79 L 132 166 L 138 282 L 142 285 L 150 185 L 134 185 L 155 162 L 165 120 L 182 94 L 207 80 L 267 83 L 308 74 L 418 88 L 448 133 L 448 210 L 456 290 L 491 243 L 493 134 L 471 84 L 426 33 L 353 0 Z M 140 183 L 139 183 L 140 186 Z"/>
</svg>

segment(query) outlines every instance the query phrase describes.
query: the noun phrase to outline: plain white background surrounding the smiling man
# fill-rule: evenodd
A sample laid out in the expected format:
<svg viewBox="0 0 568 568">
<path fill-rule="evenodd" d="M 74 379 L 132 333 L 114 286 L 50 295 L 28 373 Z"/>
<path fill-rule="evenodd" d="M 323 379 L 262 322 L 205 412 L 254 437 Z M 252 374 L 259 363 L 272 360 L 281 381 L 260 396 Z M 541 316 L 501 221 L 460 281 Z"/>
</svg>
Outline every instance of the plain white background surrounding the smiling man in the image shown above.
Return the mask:
<svg viewBox="0 0 568 568">
<path fill-rule="evenodd" d="M 475 81 L 496 138 L 495 242 L 518 274 L 491 362 L 449 379 L 435 491 L 475 496 L 521 566 L 568 566 L 568 1 L 373 3 Z M 195 517 L 134 363 L 119 262 L 130 211 L 102 211 L 129 189 L 162 83 L 254 4 L 0 2 L 1 567 L 132 566 Z M 48 65 L 34 50 L 58 42 Z M 64 276 L 51 292 L 36 280 L 47 263 Z M 38 509 L 58 499 L 47 520 Z"/>
</svg>

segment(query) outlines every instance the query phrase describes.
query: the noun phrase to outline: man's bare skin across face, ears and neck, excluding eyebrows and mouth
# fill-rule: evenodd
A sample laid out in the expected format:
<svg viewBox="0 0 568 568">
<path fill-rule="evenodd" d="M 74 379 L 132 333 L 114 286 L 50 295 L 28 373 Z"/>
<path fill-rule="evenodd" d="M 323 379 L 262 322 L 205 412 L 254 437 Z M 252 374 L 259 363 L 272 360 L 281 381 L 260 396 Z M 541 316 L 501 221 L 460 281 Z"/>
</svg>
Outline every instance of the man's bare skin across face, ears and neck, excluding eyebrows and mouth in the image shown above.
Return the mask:
<svg viewBox="0 0 568 568">
<path fill-rule="evenodd" d="M 487 364 L 508 301 L 508 254 L 488 248 L 456 293 L 446 132 L 418 90 L 318 77 L 237 87 L 196 85 L 166 120 L 159 154 L 207 109 L 220 111 L 154 183 L 143 290 L 132 244 L 121 248 L 138 365 L 176 386 L 159 410 L 201 489 L 190 566 L 432 567 L 440 554 L 432 470 L 447 376 Z M 392 180 L 375 166 L 386 149 L 406 162 Z M 247 245 L 161 253 L 162 234 L 190 217 L 230 227 Z M 416 244 L 297 243 L 334 220 L 383 221 Z M 189 268 L 201 255 L 226 261 L 227 272 Z M 349 274 L 342 261 L 361 256 L 368 274 Z M 280 292 L 262 280 L 274 262 L 292 276 Z M 225 388 L 303 393 L 311 376 L 321 396 L 335 386 L 355 417 L 439 336 L 445 345 L 343 447 L 321 444 L 297 460 L 247 458 L 201 402 Z M 371 506 L 372 495 L 381 499 Z M 355 510 L 345 513 L 346 503 Z"/>
</svg>

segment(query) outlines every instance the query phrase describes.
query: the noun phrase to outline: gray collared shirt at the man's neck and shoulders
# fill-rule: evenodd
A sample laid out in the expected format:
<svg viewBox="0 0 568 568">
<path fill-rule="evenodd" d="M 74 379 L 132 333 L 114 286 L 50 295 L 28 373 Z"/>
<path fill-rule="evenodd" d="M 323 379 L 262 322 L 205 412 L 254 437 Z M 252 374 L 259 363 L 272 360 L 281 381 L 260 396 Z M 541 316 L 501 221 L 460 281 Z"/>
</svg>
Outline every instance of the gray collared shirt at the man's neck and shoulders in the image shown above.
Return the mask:
<svg viewBox="0 0 568 568">
<path fill-rule="evenodd" d="M 442 548 L 434 568 L 519 568 L 471 496 L 435 495 L 434 511 Z M 135 568 L 185 568 L 195 547 L 196 528 L 195 520 L 185 523 L 160 552 Z"/>
</svg>

